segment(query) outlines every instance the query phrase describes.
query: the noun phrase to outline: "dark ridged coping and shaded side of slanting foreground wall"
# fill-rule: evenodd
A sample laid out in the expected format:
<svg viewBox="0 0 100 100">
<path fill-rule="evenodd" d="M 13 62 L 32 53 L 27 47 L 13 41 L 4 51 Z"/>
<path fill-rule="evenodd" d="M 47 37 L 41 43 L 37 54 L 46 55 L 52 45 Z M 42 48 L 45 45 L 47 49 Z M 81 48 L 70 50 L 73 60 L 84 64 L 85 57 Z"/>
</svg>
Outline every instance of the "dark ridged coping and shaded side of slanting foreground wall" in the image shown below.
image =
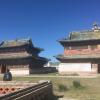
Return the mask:
<svg viewBox="0 0 100 100">
<path fill-rule="evenodd" d="M 52 83 L 45 81 L 1 96 L 0 100 L 52 100 L 52 96 Z"/>
</svg>

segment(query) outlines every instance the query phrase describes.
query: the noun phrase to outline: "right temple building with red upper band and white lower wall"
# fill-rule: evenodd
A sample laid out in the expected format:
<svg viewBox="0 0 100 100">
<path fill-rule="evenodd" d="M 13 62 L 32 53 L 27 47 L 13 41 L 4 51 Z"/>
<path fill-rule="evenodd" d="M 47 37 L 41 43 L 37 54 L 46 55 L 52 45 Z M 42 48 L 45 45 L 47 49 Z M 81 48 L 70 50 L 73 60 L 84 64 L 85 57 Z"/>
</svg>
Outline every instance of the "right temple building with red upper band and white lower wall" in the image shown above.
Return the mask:
<svg viewBox="0 0 100 100">
<path fill-rule="evenodd" d="M 100 73 L 100 28 L 97 24 L 91 30 L 72 32 L 68 38 L 59 40 L 64 54 L 56 58 L 61 62 L 59 73 L 94 75 Z"/>
</svg>

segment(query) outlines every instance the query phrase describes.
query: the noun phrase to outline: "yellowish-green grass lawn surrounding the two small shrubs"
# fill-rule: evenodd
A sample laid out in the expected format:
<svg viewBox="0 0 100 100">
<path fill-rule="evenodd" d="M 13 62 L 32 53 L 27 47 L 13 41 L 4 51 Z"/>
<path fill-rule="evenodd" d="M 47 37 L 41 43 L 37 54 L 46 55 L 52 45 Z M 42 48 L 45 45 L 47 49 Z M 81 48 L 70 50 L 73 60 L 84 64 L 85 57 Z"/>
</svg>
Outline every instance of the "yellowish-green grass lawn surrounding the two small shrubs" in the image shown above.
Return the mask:
<svg viewBox="0 0 100 100">
<path fill-rule="evenodd" d="M 64 78 L 64 77 L 13 77 L 14 81 L 30 81 L 51 80 L 55 94 L 63 94 L 64 97 L 75 98 L 78 100 L 100 100 L 100 77 L 97 78 Z M 74 88 L 73 81 L 78 80 L 82 88 Z M 59 84 L 65 88 L 59 91 Z M 61 87 L 62 88 L 62 87 Z"/>
</svg>

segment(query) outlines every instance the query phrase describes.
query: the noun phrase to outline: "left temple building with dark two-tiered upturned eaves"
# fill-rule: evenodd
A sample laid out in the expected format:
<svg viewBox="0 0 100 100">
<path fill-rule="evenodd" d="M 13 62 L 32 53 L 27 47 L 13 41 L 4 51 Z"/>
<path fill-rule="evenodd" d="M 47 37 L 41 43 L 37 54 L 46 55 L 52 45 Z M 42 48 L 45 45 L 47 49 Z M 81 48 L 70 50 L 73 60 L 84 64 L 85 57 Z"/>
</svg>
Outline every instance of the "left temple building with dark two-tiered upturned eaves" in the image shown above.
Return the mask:
<svg viewBox="0 0 100 100">
<path fill-rule="evenodd" d="M 10 69 L 12 74 L 29 75 L 41 69 L 48 59 L 40 57 L 43 49 L 35 47 L 31 39 L 16 39 L 0 43 L 0 73 Z"/>
</svg>

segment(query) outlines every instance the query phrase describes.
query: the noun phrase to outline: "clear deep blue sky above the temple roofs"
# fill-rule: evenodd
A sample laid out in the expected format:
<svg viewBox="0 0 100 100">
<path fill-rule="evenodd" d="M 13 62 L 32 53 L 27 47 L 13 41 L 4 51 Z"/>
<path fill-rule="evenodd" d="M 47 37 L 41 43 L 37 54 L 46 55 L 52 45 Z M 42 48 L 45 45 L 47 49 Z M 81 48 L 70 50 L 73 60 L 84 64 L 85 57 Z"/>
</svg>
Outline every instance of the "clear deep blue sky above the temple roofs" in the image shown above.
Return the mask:
<svg viewBox="0 0 100 100">
<path fill-rule="evenodd" d="M 0 0 L 0 41 L 31 37 L 53 61 L 63 53 L 58 39 L 93 22 L 100 24 L 100 0 Z"/>
</svg>

